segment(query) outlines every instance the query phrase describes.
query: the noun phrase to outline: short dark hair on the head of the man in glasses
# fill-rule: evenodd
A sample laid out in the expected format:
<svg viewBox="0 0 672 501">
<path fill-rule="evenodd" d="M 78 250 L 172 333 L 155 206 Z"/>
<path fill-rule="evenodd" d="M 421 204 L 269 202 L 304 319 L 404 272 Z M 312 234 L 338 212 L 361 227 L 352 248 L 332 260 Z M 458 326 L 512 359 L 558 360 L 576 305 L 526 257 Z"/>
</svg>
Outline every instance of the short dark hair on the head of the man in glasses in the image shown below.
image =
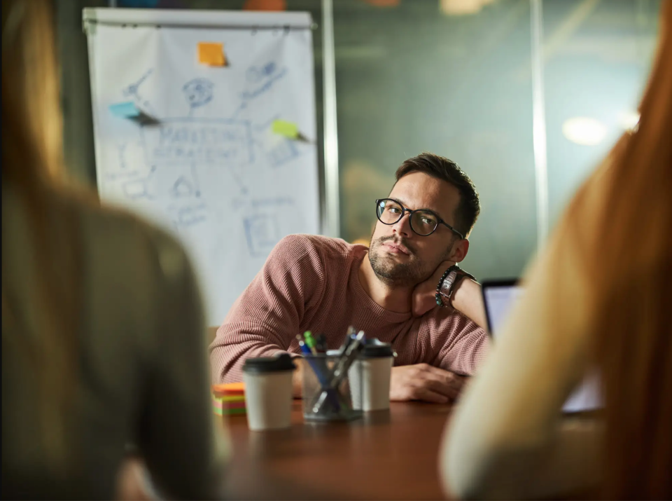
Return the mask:
<svg viewBox="0 0 672 501">
<path fill-rule="evenodd" d="M 455 211 L 454 226 L 457 231 L 466 237 L 471 228 L 474 227 L 478 214 L 481 212 L 478 193 L 469 176 L 453 160 L 426 152 L 405 160 L 397 169 L 395 177 L 399 181 L 399 179 L 412 172 L 424 172 L 436 179 L 442 179 L 458 189 L 460 202 Z"/>
</svg>

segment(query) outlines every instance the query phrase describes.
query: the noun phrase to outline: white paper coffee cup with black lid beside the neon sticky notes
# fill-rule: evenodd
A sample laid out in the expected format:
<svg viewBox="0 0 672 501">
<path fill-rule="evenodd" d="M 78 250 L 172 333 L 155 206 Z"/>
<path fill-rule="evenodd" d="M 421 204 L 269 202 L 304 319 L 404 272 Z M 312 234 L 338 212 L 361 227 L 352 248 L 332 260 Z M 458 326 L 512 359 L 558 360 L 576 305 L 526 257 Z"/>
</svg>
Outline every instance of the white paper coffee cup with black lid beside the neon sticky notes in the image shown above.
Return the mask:
<svg viewBox="0 0 672 501">
<path fill-rule="evenodd" d="M 290 427 L 294 369 L 295 365 L 287 354 L 246 360 L 243 381 L 250 430 Z"/>
</svg>

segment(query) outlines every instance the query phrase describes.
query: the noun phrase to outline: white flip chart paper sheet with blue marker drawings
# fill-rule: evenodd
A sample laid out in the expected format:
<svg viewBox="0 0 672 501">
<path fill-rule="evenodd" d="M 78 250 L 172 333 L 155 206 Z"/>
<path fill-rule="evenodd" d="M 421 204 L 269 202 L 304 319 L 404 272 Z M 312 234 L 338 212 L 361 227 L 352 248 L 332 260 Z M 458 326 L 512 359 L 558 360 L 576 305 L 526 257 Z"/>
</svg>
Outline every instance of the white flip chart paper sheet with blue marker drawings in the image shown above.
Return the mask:
<svg viewBox="0 0 672 501">
<path fill-rule="evenodd" d="M 182 242 L 218 324 L 281 238 L 320 231 L 311 21 L 156 15 L 160 28 L 130 20 L 87 31 L 99 191 Z M 237 26 L 243 18 L 250 24 Z M 200 64 L 202 42 L 223 44 L 227 65 Z M 116 104 L 153 120 L 113 114 Z"/>
</svg>

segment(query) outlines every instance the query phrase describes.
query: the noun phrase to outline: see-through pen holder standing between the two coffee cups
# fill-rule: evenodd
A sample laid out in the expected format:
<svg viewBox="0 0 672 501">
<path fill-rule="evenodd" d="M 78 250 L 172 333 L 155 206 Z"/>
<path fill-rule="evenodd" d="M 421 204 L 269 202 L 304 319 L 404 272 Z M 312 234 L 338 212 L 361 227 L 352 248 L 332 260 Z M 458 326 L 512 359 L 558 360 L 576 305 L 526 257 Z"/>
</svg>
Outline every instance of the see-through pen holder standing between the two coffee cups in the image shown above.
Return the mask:
<svg viewBox="0 0 672 501">
<path fill-rule="evenodd" d="M 348 379 L 350 365 L 346 362 L 337 355 L 303 356 L 304 420 L 347 421 L 362 417 L 362 411 L 354 410 L 362 406 L 352 401 Z"/>
</svg>

